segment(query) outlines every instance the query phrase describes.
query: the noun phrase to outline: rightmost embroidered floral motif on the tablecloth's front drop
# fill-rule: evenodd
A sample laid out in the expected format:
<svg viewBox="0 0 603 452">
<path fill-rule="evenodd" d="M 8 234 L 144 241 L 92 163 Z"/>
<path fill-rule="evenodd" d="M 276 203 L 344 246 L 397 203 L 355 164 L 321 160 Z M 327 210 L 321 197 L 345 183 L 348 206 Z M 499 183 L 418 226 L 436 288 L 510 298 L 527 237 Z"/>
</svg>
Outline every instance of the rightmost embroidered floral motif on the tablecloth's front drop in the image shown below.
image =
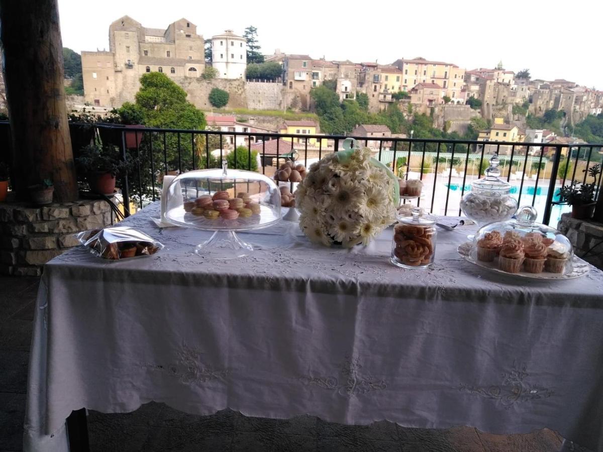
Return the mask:
<svg viewBox="0 0 603 452">
<path fill-rule="evenodd" d="M 544 388 L 543 386 L 532 385 L 525 381 L 529 377 L 526 371 L 526 365 L 517 366 L 513 363 L 513 368 L 509 372 L 503 372 L 503 380 L 500 385 L 488 386 L 471 386 L 461 384 L 459 391 L 469 392 L 469 394 L 479 395 L 479 397 L 500 400 L 500 403 L 506 408 L 514 406 L 517 403 L 522 403 L 540 398 L 549 398 L 555 394 L 552 389 Z"/>
</svg>

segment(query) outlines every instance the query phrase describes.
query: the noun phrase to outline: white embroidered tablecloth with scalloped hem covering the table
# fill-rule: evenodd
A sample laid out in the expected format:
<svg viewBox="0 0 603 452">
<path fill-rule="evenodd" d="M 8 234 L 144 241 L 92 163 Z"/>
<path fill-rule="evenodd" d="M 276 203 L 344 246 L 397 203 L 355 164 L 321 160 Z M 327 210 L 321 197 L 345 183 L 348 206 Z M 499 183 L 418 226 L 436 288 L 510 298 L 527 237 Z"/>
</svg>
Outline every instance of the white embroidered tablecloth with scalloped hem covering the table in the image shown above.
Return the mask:
<svg viewBox="0 0 603 452">
<path fill-rule="evenodd" d="M 64 450 L 65 418 L 154 400 L 244 415 L 492 433 L 549 427 L 603 449 L 603 272 L 535 281 L 456 254 L 389 263 L 391 228 L 368 248 L 311 245 L 297 224 L 241 234 L 260 250 L 193 253 L 209 232 L 159 230 L 153 204 L 125 221 L 163 242 L 123 262 L 75 248 L 46 265 L 36 311 L 26 450 Z"/>
</svg>

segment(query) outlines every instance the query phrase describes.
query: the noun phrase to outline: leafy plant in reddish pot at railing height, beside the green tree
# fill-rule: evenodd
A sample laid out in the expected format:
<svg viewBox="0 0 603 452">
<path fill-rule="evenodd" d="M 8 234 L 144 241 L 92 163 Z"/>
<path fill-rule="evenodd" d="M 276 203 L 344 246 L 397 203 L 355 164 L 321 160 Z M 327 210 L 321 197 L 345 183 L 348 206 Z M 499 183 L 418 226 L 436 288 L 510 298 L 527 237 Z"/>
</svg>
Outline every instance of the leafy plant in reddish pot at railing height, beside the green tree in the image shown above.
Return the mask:
<svg viewBox="0 0 603 452">
<path fill-rule="evenodd" d="M 125 102 L 121 107 L 113 108 L 109 115 L 107 115 L 106 118 L 103 118 L 103 122 L 99 123 L 99 125 L 111 126 L 111 128 L 99 128 L 99 133 L 101 140 L 103 140 L 103 144 L 121 148 L 121 134 L 123 129 L 144 128 L 145 126 L 142 125 L 143 121 L 144 116 L 142 115 L 142 111 L 136 104 Z M 125 133 L 126 148 L 136 149 L 138 146 L 140 146 L 141 141 L 142 131 L 127 131 Z"/>
</svg>

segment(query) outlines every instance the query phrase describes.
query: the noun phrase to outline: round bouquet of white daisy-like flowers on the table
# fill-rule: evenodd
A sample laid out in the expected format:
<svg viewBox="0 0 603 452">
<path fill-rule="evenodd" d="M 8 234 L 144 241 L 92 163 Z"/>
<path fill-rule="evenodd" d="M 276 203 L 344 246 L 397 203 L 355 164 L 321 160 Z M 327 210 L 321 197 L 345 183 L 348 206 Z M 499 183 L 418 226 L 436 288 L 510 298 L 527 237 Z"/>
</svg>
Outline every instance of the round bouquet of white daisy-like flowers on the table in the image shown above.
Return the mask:
<svg viewBox="0 0 603 452">
<path fill-rule="evenodd" d="M 315 243 L 346 248 L 367 245 L 396 221 L 399 187 L 393 173 L 371 159 L 368 148 L 350 146 L 313 163 L 297 187 L 300 228 Z"/>
</svg>

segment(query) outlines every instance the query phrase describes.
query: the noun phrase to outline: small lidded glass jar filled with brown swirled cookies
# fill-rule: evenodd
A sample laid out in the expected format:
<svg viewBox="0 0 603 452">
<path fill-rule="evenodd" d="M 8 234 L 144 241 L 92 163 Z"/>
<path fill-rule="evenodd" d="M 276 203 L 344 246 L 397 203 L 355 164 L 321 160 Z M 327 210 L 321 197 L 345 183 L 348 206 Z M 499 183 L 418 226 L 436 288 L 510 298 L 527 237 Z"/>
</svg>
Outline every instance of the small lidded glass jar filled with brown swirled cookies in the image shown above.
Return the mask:
<svg viewBox="0 0 603 452">
<path fill-rule="evenodd" d="M 427 268 L 435 256 L 435 219 L 420 216 L 415 207 L 411 216 L 398 216 L 391 242 L 391 263 L 402 268 Z"/>
</svg>

